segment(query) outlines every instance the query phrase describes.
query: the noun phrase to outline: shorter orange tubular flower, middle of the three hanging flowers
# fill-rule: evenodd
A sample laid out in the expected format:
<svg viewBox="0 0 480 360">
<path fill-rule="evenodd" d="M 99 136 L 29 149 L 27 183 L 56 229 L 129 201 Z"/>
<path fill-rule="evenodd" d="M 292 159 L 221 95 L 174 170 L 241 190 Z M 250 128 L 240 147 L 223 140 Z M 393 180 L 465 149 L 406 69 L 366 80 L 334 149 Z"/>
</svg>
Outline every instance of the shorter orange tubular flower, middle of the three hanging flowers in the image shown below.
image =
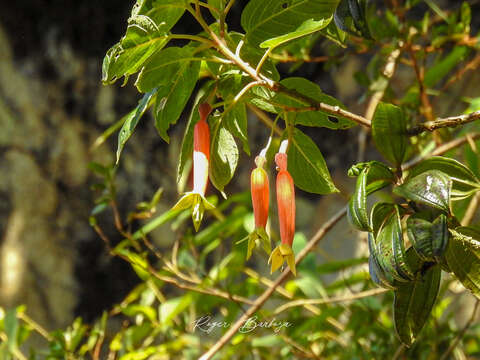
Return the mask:
<svg viewBox="0 0 480 360">
<path fill-rule="evenodd" d="M 255 217 L 255 230 L 248 236 L 247 260 L 252 256 L 256 240 L 259 239 L 263 248 L 270 254 L 270 239 L 266 232 L 268 221 L 268 207 L 270 201 L 270 190 L 267 172 L 263 169 L 265 157 L 257 156 L 255 164 L 257 167 L 252 170 L 250 176 L 250 189 L 252 193 L 253 215 Z"/>
</svg>

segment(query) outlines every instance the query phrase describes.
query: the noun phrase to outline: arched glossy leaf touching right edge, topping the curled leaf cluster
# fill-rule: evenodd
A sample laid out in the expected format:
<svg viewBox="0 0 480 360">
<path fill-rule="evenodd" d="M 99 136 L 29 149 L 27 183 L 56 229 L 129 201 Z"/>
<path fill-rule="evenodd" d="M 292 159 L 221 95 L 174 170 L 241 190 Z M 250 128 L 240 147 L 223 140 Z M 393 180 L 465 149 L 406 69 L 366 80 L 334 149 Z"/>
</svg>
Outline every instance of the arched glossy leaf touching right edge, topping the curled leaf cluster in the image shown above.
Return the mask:
<svg viewBox="0 0 480 360">
<path fill-rule="evenodd" d="M 462 198 L 469 196 L 472 191 L 480 189 L 480 181 L 475 174 L 459 161 L 442 157 L 433 156 L 423 160 L 408 173 L 408 178 L 413 178 L 428 170 L 439 170 L 452 179 L 452 198 Z"/>
</svg>

